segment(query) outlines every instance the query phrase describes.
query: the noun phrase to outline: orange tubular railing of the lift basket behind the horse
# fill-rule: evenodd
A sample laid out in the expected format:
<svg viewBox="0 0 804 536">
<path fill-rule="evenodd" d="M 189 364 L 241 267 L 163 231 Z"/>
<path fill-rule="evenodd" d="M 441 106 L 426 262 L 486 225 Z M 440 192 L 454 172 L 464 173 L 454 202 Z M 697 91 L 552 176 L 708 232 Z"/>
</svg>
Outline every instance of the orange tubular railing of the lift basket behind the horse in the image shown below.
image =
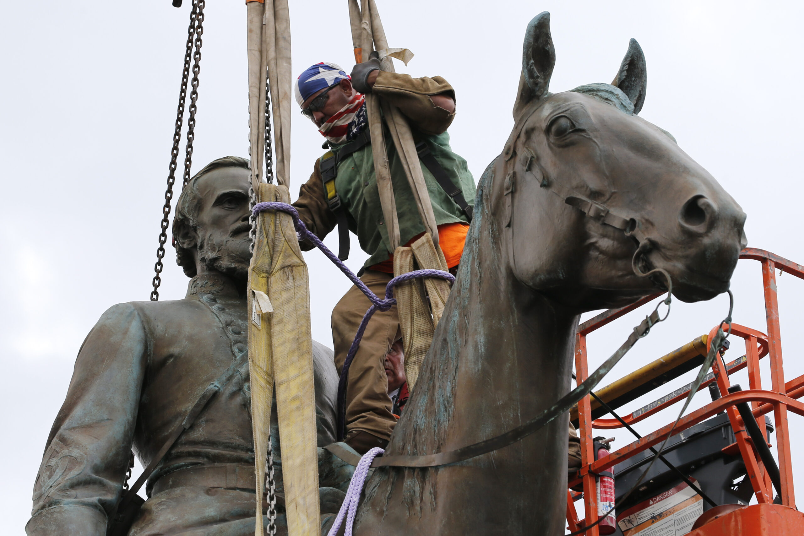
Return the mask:
<svg viewBox="0 0 804 536">
<path fill-rule="evenodd" d="M 785 374 L 781 358 L 781 329 L 779 327 L 779 306 L 777 301 L 776 274 L 774 268 L 782 272 L 790 273 L 798 278 L 804 279 L 804 267 L 790 260 L 770 252 L 765 252 L 756 248 L 745 248 L 740 253 L 740 259 L 758 260 L 762 264 L 762 282 L 765 294 L 765 316 L 767 318 L 767 334 L 755 329 L 732 323 L 732 336 L 740 337 L 745 340 L 745 356 L 728 363 L 725 367 L 721 364 L 722 360 L 716 358 L 712 363 L 712 373 L 714 377 L 702 383 L 700 388 L 706 387 L 710 383 L 716 383 L 722 398 L 708 403 L 698 410 L 692 411 L 689 415 L 683 416 L 675 425 L 669 423 L 657 431 L 642 437 L 641 440 L 611 452 L 597 461 L 593 455 L 593 428 L 610 429 L 621 428 L 622 424 L 617 419 L 595 419 L 592 418 L 591 396 L 586 396 L 578 403 L 579 436 L 581 445 L 582 465 L 578 471 L 579 477 L 569 483 L 570 487 L 576 487 L 583 483 L 584 493 L 574 493 L 571 490 L 567 495 L 567 523 L 569 530 L 575 532 L 584 526 L 590 526 L 585 531 L 586 536 L 598 536 L 600 534 L 597 526 L 592 526 L 597 522 L 597 497 L 595 493 L 595 474 L 609 470 L 616 464 L 645 451 L 650 447 L 661 444 L 667 434 L 683 432 L 687 428 L 695 426 L 704 420 L 726 411 L 731 423 L 736 444 L 732 444 L 730 449 L 734 454 L 740 452 L 748 473 L 751 484 L 753 485 L 754 495 L 759 503 L 773 503 L 773 486 L 768 473 L 765 471 L 762 462 L 757 456 L 757 451 L 753 447 L 748 432 L 745 431 L 743 420 L 737 411 L 735 404 L 740 402 L 750 402 L 755 418 L 759 418 L 773 411 L 776 424 L 776 448 L 777 460 L 781 481 L 781 504 L 795 507 L 793 468 L 790 456 L 790 432 L 788 429 L 787 415 L 791 411 L 797 415 L 804 415 L 804 403 L 798 402 L 798 398 L 804 395 L 804 375 L 785 382 Z M 584 322 L 578 326 L 576 334 L 575 365 L 577 382 L 583 382 L 589 376 L 589 366 L 586 361 L 586 337 L 594 330 L 609 324 L 641 305 L 658 297 L 659 294 L 644 297 L 632 305 L 621 309 L 609 309 L 597 317 Z M 707 350 L 712 345 L 718 327 L 712 328 L 707 338 Z M 724 329 L 726 329 L 724 325 Z M 759 362 L 761 358 L 768 356 L 770 361 L 770 381 L 771 390 L 763 390 L 760 378 Z M 730 387 L 728 376 L 737 370 L 748 369 L 749 390 L 728 393 Z M 724 374 L 725 372 L 725 374 Z M 672 404 L 686 399 L 689 391 L 682 391 L 674 396 L 663 399 L 655 407 L 650 407 L 646 411 L 639 411 L 638 415 L 623 416 L 626 423 L 632 424 L 654 415 Z M 763 423 L 764 424 L 764 423 Z M 766 436 L 765 426 L 760 425 L 762 434 Z M 574 502 L 580 498 L 584 499 L 585 519 L 580 521 L 577 517 Z"/>
</svg>

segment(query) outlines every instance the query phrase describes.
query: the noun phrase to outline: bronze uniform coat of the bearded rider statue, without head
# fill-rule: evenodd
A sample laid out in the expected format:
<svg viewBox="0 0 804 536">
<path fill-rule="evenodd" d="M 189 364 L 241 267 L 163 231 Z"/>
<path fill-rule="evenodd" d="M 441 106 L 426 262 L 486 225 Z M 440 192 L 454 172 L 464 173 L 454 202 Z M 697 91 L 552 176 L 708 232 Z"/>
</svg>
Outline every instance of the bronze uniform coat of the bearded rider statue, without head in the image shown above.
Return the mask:
<svg viewBox="0 0 804 536">
<path fill-rule="evenodd" d="M 36 477 L 27 533 L 105 534 L 131 449 L 143 466 L 149 464 L 200 393 L 232 362 L 238 372 L 174 444 L 146 489 L 150 493 L 163 475 L 191 466 L 228 464 L 230 473 L 240 475 L 232 486 L 215 488 L 214 496 L 188 488 L 154 495 L 130 534 L 227 523 L 253 533 L 254 494 L 240 489 L 249 482 L 254 487 L 246 333 L 246 301 L 231 282 L 208 274 L 191 280 L 184 300 L 133 302 L 106 311 L 76 358 Z M 314 343 L 314 358 L 322 446 L 334 440 L 338 378 L 329 350 Z M 223 534 L 240 534 L 231 528 Z"/>
</svg>

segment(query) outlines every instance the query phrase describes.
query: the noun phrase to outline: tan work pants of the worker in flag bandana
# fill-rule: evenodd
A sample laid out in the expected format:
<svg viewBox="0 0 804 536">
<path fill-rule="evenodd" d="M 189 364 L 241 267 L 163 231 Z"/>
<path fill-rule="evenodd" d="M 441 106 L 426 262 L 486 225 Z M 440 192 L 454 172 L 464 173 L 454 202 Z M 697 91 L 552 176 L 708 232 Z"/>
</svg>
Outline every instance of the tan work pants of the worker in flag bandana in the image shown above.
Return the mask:
<svg viewBox="0 0 804 536">
<path fill-rule="evenodd" d="M 360 280 L 380 298 L 385 297 L 385 285 L 392 274 L 366 270 Z M 355 333 L 363 320 L 371 301 L 355 285 L 343 295 L 332 311 L 332 342 L 335 350 L 335 366 L 338 374 Z M 388 376 L 385 375 L 385 354 L 400 337 L 400 321 L 396 305 L 388 311 L 377 311 L 368 322 L 363 340 L 349 366 L 347 385 L 347 436 L 350 432 L 363 431 L 383 440 L 391 438 L 396 426 L 396 417 L 391 412 L 388 396 Z"/>
</svg>

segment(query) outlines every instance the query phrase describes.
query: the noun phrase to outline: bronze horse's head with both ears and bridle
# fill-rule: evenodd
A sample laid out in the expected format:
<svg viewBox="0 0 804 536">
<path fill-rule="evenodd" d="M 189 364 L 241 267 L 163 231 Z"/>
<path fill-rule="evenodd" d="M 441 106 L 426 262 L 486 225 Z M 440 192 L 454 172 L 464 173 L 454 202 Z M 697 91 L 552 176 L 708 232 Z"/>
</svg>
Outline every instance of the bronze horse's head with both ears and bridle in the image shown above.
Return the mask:
<svg viewBox="0 0 804 536">
<path fill-rule="evenodd" d="M 517 278 L 586 310 L 653 286 L 632 261 L 642 272 L 666 270 L 680 300 L 723 293 L 745 247 L 745 214 L 669 133 L 638 117 L 638 43 L 631 39 L 612 84 L 551 94 L 555 59 L 549 14 L 539 14 L 525 38 L 516 126 L 495 167 L 510 178 L 491 186 L 494 212 L 510 211 L 503 240 Z M 568 194 L 547 193 L 556 189 Z M 605 223 L 609 213 L 626 228 Z"/>
</svg>

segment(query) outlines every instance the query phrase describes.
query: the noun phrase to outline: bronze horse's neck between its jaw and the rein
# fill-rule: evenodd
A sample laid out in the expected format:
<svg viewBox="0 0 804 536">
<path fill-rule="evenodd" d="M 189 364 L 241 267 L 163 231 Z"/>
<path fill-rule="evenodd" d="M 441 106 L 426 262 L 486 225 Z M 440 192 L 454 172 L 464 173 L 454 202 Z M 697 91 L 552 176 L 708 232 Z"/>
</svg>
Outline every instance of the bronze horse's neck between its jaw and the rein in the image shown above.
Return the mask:
<svg viewBox="0 0 804 536">
<path fill-rule="evenodd" d="M 484 196 L 481 209 L 489 205 Z M 577 317 L 515 280 L 505 268 L 503 227 L 487 210 L 475 214 L 453 296 L 416 383 L 420 392 L 394 434 L 401 452 L 488 439 L 568 391 Z"/>
</svg>

